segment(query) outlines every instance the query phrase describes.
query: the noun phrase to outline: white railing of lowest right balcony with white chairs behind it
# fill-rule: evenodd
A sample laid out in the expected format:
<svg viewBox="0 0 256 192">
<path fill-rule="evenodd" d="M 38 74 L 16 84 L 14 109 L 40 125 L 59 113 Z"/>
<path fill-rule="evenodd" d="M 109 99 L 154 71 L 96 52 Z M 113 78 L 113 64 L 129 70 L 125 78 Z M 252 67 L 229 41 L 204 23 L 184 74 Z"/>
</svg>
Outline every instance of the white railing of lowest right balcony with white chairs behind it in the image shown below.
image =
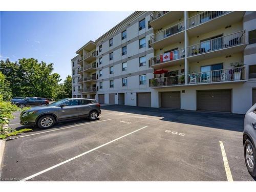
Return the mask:
<svg viewBox="0 0 256 192">
<path fill-rule="evenodd" d="M 191 73 L 187 75 L 188 84 L 226 82 L 245 80 L 245 67 Z"/>
</svg>

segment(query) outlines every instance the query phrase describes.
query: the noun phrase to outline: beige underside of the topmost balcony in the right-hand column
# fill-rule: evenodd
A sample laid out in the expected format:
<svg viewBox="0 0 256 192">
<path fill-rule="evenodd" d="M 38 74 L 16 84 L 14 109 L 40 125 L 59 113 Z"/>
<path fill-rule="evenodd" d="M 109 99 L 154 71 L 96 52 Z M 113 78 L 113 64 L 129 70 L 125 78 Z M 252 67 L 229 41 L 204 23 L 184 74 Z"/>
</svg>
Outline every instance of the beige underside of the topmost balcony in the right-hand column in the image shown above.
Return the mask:
<svg viewBox="0 0 256 192">
<path fill-rule="evenodd" d="M 243 19 L 244 14 L 245 11 L 232 11 L 225 15 L 208 20 L 208 22 L 187 29 L 187 34 L 189 37 L 194 37 L 210 31 L 215 31 L 216 26 L 218 26 L 218 28 L 223 28 L 231 24 L 240 22 Z"/>
</svg>

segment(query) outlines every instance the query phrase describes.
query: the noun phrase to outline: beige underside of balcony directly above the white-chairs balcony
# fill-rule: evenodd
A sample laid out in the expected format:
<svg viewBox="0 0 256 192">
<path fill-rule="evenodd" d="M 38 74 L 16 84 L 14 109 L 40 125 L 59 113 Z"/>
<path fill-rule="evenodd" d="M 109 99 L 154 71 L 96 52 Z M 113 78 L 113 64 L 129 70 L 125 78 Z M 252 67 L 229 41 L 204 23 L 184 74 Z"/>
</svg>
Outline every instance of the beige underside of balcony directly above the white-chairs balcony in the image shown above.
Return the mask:
<svg viewBox="0 0 256 192">
<path fill-rule="evenodd" d="M 218 50 L 211 51 L 211 52 L 205 52 L 205 53 L 201 53 L 201 54 L 197 54 L 197 55 L 191 55 L 191 56 L 188 56 L 187 59 L 190 62 L 196 62 L 196 61 L 201 61 L 201 60 L 219 57 L 219 56 L 223 56 L 223 55 L 230 55 L 230 54 L 239 53 L 239 52 L 243 51 L 246 46 L 247 46 L 247 44 L 241 44 L 241 45 L 232 46 L 232 47 L 228 47 L 228 48 L 224 48 L 224 49 L 218 49 Z"/>
</svg>

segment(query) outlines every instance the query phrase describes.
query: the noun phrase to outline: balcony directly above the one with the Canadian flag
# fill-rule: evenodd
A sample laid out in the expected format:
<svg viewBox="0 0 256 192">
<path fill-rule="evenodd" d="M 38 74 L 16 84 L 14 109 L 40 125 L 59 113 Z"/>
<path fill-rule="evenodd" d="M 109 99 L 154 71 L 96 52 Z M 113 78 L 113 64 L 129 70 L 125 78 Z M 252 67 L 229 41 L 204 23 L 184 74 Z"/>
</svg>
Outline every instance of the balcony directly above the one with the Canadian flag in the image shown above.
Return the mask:
<svg viewBox="0 0 256 192">
<path fill-rule="evenodd" d="M 151 47 L 160 49 L 184 40 L 184 22 L 169 27 L 151 36 Z"/>
</svg>

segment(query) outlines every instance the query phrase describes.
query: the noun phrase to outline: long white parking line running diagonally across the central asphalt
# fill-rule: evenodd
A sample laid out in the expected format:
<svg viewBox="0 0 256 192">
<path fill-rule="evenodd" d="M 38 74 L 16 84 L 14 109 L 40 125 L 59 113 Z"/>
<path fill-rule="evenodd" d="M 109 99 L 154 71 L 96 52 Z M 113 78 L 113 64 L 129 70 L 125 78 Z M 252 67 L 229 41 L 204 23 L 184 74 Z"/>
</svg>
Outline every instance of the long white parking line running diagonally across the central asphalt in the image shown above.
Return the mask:
<svg viewBox="0 0 256 192">
<path fill-rule="evenodd" d="M 123 136 L 121 136 L 121 137 L 118 137 L 118 138 L 116 138 L 116 139 L 114 139 L 114 140 L 112 140 L 112 141 L 109 141 L 108 143 L 105 143 L 105 144 L 103 144 L 103 145 L 97 146 L 97 147 L 93 148 L 92 150 L 89 150 L 89 151 L 84 152 L 84 153 L 82 153 L 82 154 L 80 154 L 80 155 L 77 155 L 77 156 L 75 156 L 75 157 L 72 157 L 72 158 L 70 158 L 70 159 L 68 159 L 68 160 L 66 160 L 66 161 L 63 161 L 63 162 L 58 163 L 58 164 L 56 164 L 56 165 L 53 165 L 53 166 L 51 166 L 51 167 L 49 167 L 49 168 L 47 168 L 47 169 L 45 169 L 45 170 L 42 170 L 41 172 L 38 172 L 38 173 L 36 173 L 36 174 L 34 174 L 34 175 L 31 175 L 31 176 L 29 176 L 29 177 L 26 177 L 26 178 L 24 178 L 24 179 L 22 179 L 22 180 L 20 180 L 20 181 L 27 181 L 27 180 L 29 180 L 29 179 L 31 179 L 31 178 L 33 178 L 33 177 L 36 177 L 36 176 L 41 175 L 41 174 L 43 174 L 43 173 L 46 173 L 46 172 L 48 172 L 48 170 L 54 169 L 54 168 L 56 168 L 56 167 L 58 167 L 58 166 L 60 166 L 60 165 L 63 165 L 63 164 L 65 164 L 65 163 L 68 163 L 68 162 L 70 162 L 70 161 L 72 161 L 72 160 L 74 160 L 74 159 L 77 159 L 78 157 L 81 157 L 81 156 L 86 155 L 86 154 L 88 154 L 88 153 L 90 153 L 90 152 L 93 152 L 93 151 L 97 150 L 98 148 L 101 148 L 101 147 L 103 147 L 103 146 L 105 146 L 105 145 L 108 145 L 108 144 L 110 144 L 110 143 L 113 143 L 114 141 L 117 141 L 117 140 L 119 140 L 119 139 L 121 139 L 121 138 L 123 138 L 123 137 L 126 137 L 126 136 L 128 136 L 128 135 L 131 135 L 131 134 L 133 134 L 133 133 L 135 133 L 135 132 L 138 132 L 138 131 L 140 131 L 140 130 L 146 128 L 146 127 L 147 127 L 147 126 L 143 126 L 142 128 L 140 128 L 140 129 L 138 129 L 138 130 L 135 130 L 135 131 L 133 131 L 133 132 L 131 132 L 131 133 L 128 133 L 128 134 L 126 134 L 126 135 L 123 135 Z"/>
</svg>

